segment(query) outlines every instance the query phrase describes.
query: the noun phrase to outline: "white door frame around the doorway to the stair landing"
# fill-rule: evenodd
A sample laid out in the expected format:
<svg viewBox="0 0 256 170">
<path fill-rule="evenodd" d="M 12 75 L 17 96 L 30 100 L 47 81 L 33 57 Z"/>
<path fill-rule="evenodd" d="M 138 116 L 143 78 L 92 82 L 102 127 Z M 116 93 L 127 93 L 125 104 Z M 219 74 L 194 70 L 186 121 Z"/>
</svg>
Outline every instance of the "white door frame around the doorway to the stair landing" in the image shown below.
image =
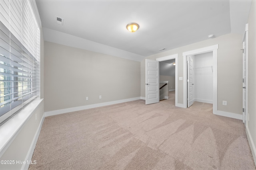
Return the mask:
<svg viewBox="0 0 256 170">
<path fill-rule="evenodd" d="M 175 59 L 175 106 L 182 107 L 182 104 L 178 104 L 178 54 L 160 57 L 157 58 L 156 61 L 166 61 L 171 59 Z"/>
</svg>

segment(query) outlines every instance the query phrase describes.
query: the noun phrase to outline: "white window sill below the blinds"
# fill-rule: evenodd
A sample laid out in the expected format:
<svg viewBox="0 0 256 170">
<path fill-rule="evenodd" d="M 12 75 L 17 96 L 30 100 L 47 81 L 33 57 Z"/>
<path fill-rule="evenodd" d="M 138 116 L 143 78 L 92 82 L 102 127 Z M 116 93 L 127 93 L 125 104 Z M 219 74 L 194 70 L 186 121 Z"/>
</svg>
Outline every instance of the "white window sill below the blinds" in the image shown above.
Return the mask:
<svg viewBox="0 0 256 170">
<path fill-rule="evenodd" d="M 26 106 L 14 117 L 0 126 L 0 157 L 4 154 L 6 149 L 22 129 L 24 123 L 30 119 L 43 100 L 44 99 L 34 100 L 31 104 Z"/>
</svg>

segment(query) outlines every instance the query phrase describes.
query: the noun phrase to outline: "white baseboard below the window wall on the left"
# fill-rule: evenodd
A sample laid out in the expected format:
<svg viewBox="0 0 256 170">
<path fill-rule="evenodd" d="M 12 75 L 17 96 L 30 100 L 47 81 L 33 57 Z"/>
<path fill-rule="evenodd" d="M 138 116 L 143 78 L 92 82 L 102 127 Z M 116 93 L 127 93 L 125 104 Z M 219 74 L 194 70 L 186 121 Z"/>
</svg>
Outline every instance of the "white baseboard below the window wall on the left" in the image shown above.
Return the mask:
<svg viewBox="0 0 256 170">
<path fill-rule="evenodd" d="M 29 148 L 29 150 L 28 150 L 28 154 L 27 154 L 25 160 L 32 160 L 32 156 L 33 156 L 34 150 L 35 150 L 35 148 L 36 148 L 36 142 L 37 142 L 37 140 L 38 140 L 38 137 L 39 137 L 40 131 L 41 131 L 41 129 L 42 129 L 43 123 L 44 123 L 44 115 L 42 116 L 42 119 L 41 119 L 41 121 L 40 121 L 39 127 L 37 128 L 36 134 L 35 134 L 34 139 L 33 139 L 32 143 L 31 143 L 31 145 L 30 145 L 30 148 Z M 32 160 L 32 161 L 34 161 L 34 160 Z M 29 165 L 30 165 L 30 164 L 27 164 L 27 162 L 26 162 L 26 164 L 23 164 L 23 165 L 22 165 L 22 168 L 21 168 L 21 169 L 22 169 L 22 170 L 27 170 L 28 167 L 29 167 Z"/>
</svg>

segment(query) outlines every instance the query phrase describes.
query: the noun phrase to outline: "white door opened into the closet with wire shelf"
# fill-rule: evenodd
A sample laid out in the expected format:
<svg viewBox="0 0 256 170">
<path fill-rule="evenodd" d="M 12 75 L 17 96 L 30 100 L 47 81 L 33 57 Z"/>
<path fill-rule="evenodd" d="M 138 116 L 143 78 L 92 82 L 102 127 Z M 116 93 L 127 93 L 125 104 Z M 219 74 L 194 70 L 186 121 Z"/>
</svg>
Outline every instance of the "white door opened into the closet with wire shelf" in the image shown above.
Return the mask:
<svg viewBox="0 0 256 170">
<path fill-rule="evenodd" d="M 193 98 L 193 59 L 188 57 L 188 107 L 194 103 Z"/>
</svg>

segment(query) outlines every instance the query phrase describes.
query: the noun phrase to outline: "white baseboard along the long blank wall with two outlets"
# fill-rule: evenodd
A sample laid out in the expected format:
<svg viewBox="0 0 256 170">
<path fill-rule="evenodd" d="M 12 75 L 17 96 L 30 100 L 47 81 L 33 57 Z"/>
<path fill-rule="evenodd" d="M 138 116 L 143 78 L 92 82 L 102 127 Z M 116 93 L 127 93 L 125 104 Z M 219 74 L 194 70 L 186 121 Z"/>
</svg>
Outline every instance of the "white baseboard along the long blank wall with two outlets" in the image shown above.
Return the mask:
<svg viewBox="0 0 256 170">
<path fill-rule="evenodd" d="M 116 100 L 116 101 L 112 101 L 112 102 L 105 102 L 105 103 L 99 103 L 99 104 L 91 104 L 91 105 L 86 105 L 86 106 L 71 107 L 71 108 L 67 108 L 67 109 L 47 111 L 47 112 L 44 113 L 44 115 L 45 115 L 45 117 L 48 117 L 48 116 L 59 115 L 59 114 L 63 114 L 63 113 L 69 113 L 69 112 L 73 112 L 73 111 L 92 109 L 92 108 L 95 108 L 95 107 L 108 106 L 108 105 L 112 105 L 112 104 L 119 104 L 119 103 L 134 101 L 134 100 L 140 100 L 140 99 L 141 99 L 140 97 L 137 97 L 137 98 Z"/>
</svg>

